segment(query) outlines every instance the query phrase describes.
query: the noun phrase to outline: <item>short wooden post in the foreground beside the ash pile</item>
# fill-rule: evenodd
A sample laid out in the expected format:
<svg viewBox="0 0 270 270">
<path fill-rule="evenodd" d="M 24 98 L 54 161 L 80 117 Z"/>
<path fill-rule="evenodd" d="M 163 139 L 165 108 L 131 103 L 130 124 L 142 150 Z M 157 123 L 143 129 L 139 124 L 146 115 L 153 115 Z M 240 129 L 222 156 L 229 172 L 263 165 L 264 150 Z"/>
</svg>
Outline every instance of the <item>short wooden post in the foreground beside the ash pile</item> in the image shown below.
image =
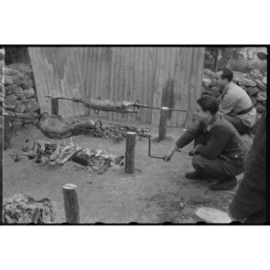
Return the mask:
<svg viewBox="0 0 270 270">
<path fill-rule="evenodd" d="M 66 222 L 71 224 L 80 223 L 79 203 L 75 190 L 76 187 L 77 186 L 74 184 L 63 185 Z"/>
</svg>

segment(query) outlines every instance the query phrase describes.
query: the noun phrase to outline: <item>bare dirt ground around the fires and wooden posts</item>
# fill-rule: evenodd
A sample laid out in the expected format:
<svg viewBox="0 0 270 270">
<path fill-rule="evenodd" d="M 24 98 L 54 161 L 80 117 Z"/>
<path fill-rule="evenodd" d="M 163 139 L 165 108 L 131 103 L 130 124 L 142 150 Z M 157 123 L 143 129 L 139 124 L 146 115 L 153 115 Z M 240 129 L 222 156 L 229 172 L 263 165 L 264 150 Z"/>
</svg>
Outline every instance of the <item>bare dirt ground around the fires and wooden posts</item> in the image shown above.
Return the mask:
<svg viewBox="0 0 270 270">
<path fill-rule="evenodd" d="M 104 118 L 103 124 L 114 123 Z M 89 117 L 77 117 L 72 120 L 89 120 Z M 158 126 L 135 122 L 118 122 L 137 128 L 150 127 L 151 153 L 163 156 L 183 134 L 182 128 L 167 128 L 167 139 L 158 142 Z M 29 142 L 26 143 L 26 140 Z M 4 197 L 25 193 L 35 199 L 49 198 L 56 202 L 56 223 L 65 222 L 62 186 L 72 183 L 77 186 L 80 207 L 80 223 L 194 223 L 194 210 L 199 207 L 211 207 L 228 210 L 228 204 L 234 194 L 209 190 L 205 180 L 189 180 L 185 173 L 193 171 L 191 156 L 193 143 L 175 152 L 170 162 L 148 156 L 148 139 L 136 140 L 135 174 L 113 167 L 103 175 L 90 171 L 83 165 L 68 161 L 66 164 L 38 164 L 23 157 L 14 162 L 9 154 L 22 154 L 24 145 L 32 146 L 34 141 L 45 139 L 57 143 L 58 140 L 46 138 L 35 126 L 27 125 L 21 131 L 12 133 L 13 147 L 3 152 Z M 103 149 L 114 155 L 125 154 L 125 138 L 96 138 L 90 135 L 73 137 L 74 145 L 91 150 Z M 69 144 L 69 139 L 66 139 Z M 242 175 L 238 176 L 240 180 Z M 235 192 L 231 190 L 230 192 Z M 183 208 L 181 205 L 183 204 Z"/>
</svg>

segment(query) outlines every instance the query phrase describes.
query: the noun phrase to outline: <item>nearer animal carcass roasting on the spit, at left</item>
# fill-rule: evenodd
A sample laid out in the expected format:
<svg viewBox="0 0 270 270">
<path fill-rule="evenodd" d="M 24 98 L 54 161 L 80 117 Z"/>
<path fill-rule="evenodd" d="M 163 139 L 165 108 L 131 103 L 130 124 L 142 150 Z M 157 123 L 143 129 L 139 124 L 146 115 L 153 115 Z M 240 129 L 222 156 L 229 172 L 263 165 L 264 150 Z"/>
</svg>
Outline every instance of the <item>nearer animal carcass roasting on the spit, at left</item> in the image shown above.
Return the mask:
<svg viewBox="0 0 270 270">
<path fill-rule="evenodd" d="M 35 125 L 50 139 L 69 138 L 94 129 L 103 134 L 97 124 L 92 120 L 69 124 L 60 115 L 49 115 L 48 113 L 43 113 L 36 119 Z"/>
</svg>

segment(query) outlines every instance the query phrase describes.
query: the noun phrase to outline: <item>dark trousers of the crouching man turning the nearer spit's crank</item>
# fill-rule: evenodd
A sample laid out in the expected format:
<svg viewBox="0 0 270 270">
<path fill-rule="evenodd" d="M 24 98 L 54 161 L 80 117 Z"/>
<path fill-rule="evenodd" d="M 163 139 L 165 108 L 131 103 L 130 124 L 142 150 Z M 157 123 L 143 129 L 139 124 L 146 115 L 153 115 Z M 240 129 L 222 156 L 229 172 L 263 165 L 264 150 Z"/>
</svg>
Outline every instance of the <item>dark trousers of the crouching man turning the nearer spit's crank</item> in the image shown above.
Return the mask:
<svg viewBox="0 0 270 270">
<path fill-rule="evenodd" d="M 195 155 L 192 158 L 192 166 L 209 182 L 234 177 L 243 172 L 243 166 L 232 165 L 219 157 L 210 160 L 201 155 Z"/>
</svg>

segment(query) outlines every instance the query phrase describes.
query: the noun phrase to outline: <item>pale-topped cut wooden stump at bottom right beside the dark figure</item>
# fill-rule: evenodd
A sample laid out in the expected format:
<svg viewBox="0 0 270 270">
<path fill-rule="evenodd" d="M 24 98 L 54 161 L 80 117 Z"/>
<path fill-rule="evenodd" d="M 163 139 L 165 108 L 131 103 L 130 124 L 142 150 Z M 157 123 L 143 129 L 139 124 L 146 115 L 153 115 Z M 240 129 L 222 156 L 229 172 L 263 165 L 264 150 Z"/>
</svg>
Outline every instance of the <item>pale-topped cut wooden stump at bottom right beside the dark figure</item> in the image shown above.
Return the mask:
<svg viewBox="0 0 270 270">
<path fill-rule="evenodd" d="M 200 207 L 195 212 L 195 222 L 204 221 L 206 223 L 230 223 L 232 220 L 228 214 L 209 207 Z"/>
</svg>

